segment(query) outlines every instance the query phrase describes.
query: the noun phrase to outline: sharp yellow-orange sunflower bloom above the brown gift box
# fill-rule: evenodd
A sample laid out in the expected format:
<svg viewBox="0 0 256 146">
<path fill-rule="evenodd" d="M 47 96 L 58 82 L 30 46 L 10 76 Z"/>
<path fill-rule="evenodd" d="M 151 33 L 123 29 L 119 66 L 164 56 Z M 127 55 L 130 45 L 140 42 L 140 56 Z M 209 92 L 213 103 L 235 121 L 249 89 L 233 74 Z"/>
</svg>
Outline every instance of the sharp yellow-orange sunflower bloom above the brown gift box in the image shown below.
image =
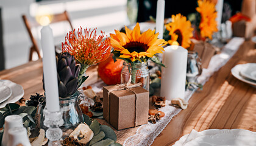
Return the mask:
<svg viewBox="0 0 256 146">
<path fill-rule="evenodd" d="M 144 60 L 153 57 L 157 53 L 163 53 L 163 47 L 167 42 L 157 39 L 158 33 L 155 30 L 147 30 L 140 33 L 140 25 L 137 23 L 133 30 L 126 26 L 126 33 L 115 30 L 110 34 L 110 42 L 115 52 L 119 52 L 118 58 L 128 58 L 131 61 Z"/>
</svg>

